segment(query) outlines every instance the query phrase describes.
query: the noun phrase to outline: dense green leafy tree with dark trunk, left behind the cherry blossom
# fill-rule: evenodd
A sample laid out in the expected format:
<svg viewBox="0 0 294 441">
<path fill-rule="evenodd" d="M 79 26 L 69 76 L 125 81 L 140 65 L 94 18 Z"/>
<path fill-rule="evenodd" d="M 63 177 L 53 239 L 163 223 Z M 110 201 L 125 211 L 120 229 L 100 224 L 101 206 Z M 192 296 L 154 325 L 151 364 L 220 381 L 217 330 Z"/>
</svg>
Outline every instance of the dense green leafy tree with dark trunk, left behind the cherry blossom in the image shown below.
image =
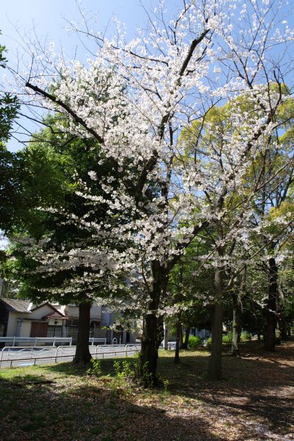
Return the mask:
<svg viewBox="0 0 294 441">
<path fill-rule="evenodd" d="M 95 196 L 103 196 L 101 178 L 107 178 L 110 172 L 113 176 L 113 173 L 111 164 L 109 167 L 105 163 L 103 167 L 99 165 L 97 142 L 68 136 L 60 130 L 60 125 L 63 129 L 66 127 L 66 121 L 58 117 L 48 116 L 44 123 L 48 127 L 36 134 L 30 145 L 17 154 L 17 164 L 21 169 L 20 193 L 26 201 L 26 209 L 21 218 L 14 219 L 10 229 L 18 243 L 12 246 L 13 258 L 6 263 L 4 272 L 17 276 L 21 281 L 20 296 L 35 302 L 46 298 L 79 305 L 74 361 L 86 363 L 90 360 L 91 302 L 95 298 L 108 298 L 111 284 L 107 275 L 101 278 L 99 263 L 88 260 L 88 248 L 99 248 L 100 245 L 92 227 L 97 220 L 97 212 L 89 214 L 89 207 L 78 190 L 87 186 Z M 36 139 L 40 141 L 35 142 Z M 88 174 L 89 169 L 95 174 L 94 180 Z M 98 216 L 108 216 L 103 207 Z M 84 227 L 81 228 L 77 219 L 84 219 Z M 116 222 L 116 218 L 110 217 L 109 222 Z M 104 247 L 107 241 L 106 237 Z M 30 252 L 26 243 L 31 245 Z M 40 247 L 42 253 L 46 252 L 49 256 L 48 260 L 41 261 L 41 265 Z M 76 247 L 80 249 L 79 260 L 70 254 Z M 55 256 L 56 271 L 50 254 Z M 119 296 L 119 292 L 116 294 Z"/>
</svg>

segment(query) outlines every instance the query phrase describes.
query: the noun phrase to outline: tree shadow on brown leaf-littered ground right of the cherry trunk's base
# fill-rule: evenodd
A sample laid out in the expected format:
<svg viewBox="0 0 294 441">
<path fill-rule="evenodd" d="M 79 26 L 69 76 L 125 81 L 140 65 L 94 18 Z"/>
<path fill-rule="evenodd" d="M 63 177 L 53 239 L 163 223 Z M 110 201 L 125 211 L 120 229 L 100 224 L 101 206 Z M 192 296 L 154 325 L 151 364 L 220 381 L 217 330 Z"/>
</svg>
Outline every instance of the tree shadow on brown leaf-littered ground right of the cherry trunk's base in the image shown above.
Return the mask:
<svg viewBox="0 0 294 441">
<path fill-rule="evenodd" d="M 257 360 L 223 357 L 224 380 L 217 382 L 206 379 L 209 357 L 182 356 L 177 376 L 170 375 L 170 388 L 175 395 L 201 400 L 216 416 L 224 410 L 236 420 L 243 416 L 262 421 L 282 436 L 291 430 L 294 422 L 293 389 L 291 398 L 294 369 L 284 363 L 291 360 L 290 354 L 291 351 L 283 348 L 280 353 L 262 354 Z M 166 367 L 164 371 L 167 372 Z"/>
</svg>

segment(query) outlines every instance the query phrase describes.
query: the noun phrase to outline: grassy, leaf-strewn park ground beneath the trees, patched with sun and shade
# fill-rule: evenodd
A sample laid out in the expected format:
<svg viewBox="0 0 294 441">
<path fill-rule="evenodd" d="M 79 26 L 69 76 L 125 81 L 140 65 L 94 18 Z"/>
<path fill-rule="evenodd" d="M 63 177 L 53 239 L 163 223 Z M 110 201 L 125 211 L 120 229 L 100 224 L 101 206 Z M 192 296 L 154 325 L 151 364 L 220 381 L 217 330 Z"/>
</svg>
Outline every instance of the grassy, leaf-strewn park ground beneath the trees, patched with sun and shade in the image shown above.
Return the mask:
<svg viewBox="0 0 294 441">
<path fill-rule="evenodd" d="M 208 352 L 162 351 L 166 389 L 148 391 L 86 375 L 69 363 L 0 371 L 1 441 L 294 440 L 294 345 L 265 353 L 257 342 L 242 359 L 224 356 L 224 380 L 209 382 Z M 107 376 L 108 375 L 108 376 Z"/>
</svg>

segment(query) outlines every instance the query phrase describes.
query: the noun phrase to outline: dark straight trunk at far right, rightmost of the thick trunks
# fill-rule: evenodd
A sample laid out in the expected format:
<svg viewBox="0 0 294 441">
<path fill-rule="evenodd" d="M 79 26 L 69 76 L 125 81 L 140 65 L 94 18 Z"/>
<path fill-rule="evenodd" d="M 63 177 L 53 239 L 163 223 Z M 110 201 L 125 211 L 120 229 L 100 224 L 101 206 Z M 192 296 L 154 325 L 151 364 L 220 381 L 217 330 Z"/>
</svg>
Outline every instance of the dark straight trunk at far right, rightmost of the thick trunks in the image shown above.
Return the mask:
<svg viewBox="0 0 294 441">
<path fill-rule="evenodd" d="M 266 311 L 266 338 L 264 349 L 275 351 L 275 328 L 277 311 L 277 264 L 275 258 L 268 260 L 268 308 Z"/>
</svg>

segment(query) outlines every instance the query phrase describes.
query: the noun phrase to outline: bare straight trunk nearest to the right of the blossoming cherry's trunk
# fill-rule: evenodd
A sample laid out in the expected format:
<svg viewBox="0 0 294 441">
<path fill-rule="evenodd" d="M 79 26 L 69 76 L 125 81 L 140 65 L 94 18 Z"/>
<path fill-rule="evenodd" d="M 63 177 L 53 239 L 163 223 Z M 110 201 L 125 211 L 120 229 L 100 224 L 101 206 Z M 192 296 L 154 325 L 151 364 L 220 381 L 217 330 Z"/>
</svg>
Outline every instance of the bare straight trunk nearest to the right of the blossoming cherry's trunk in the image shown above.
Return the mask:
<svg viewBox="0 0 294 441">
<path fill-rule="evenodd" d="M 208 378 L 222 378 L 222 271 L 215 270 L 215 307 L 213 315 L 211 356 L 208 365 Z"/>
</svg>

